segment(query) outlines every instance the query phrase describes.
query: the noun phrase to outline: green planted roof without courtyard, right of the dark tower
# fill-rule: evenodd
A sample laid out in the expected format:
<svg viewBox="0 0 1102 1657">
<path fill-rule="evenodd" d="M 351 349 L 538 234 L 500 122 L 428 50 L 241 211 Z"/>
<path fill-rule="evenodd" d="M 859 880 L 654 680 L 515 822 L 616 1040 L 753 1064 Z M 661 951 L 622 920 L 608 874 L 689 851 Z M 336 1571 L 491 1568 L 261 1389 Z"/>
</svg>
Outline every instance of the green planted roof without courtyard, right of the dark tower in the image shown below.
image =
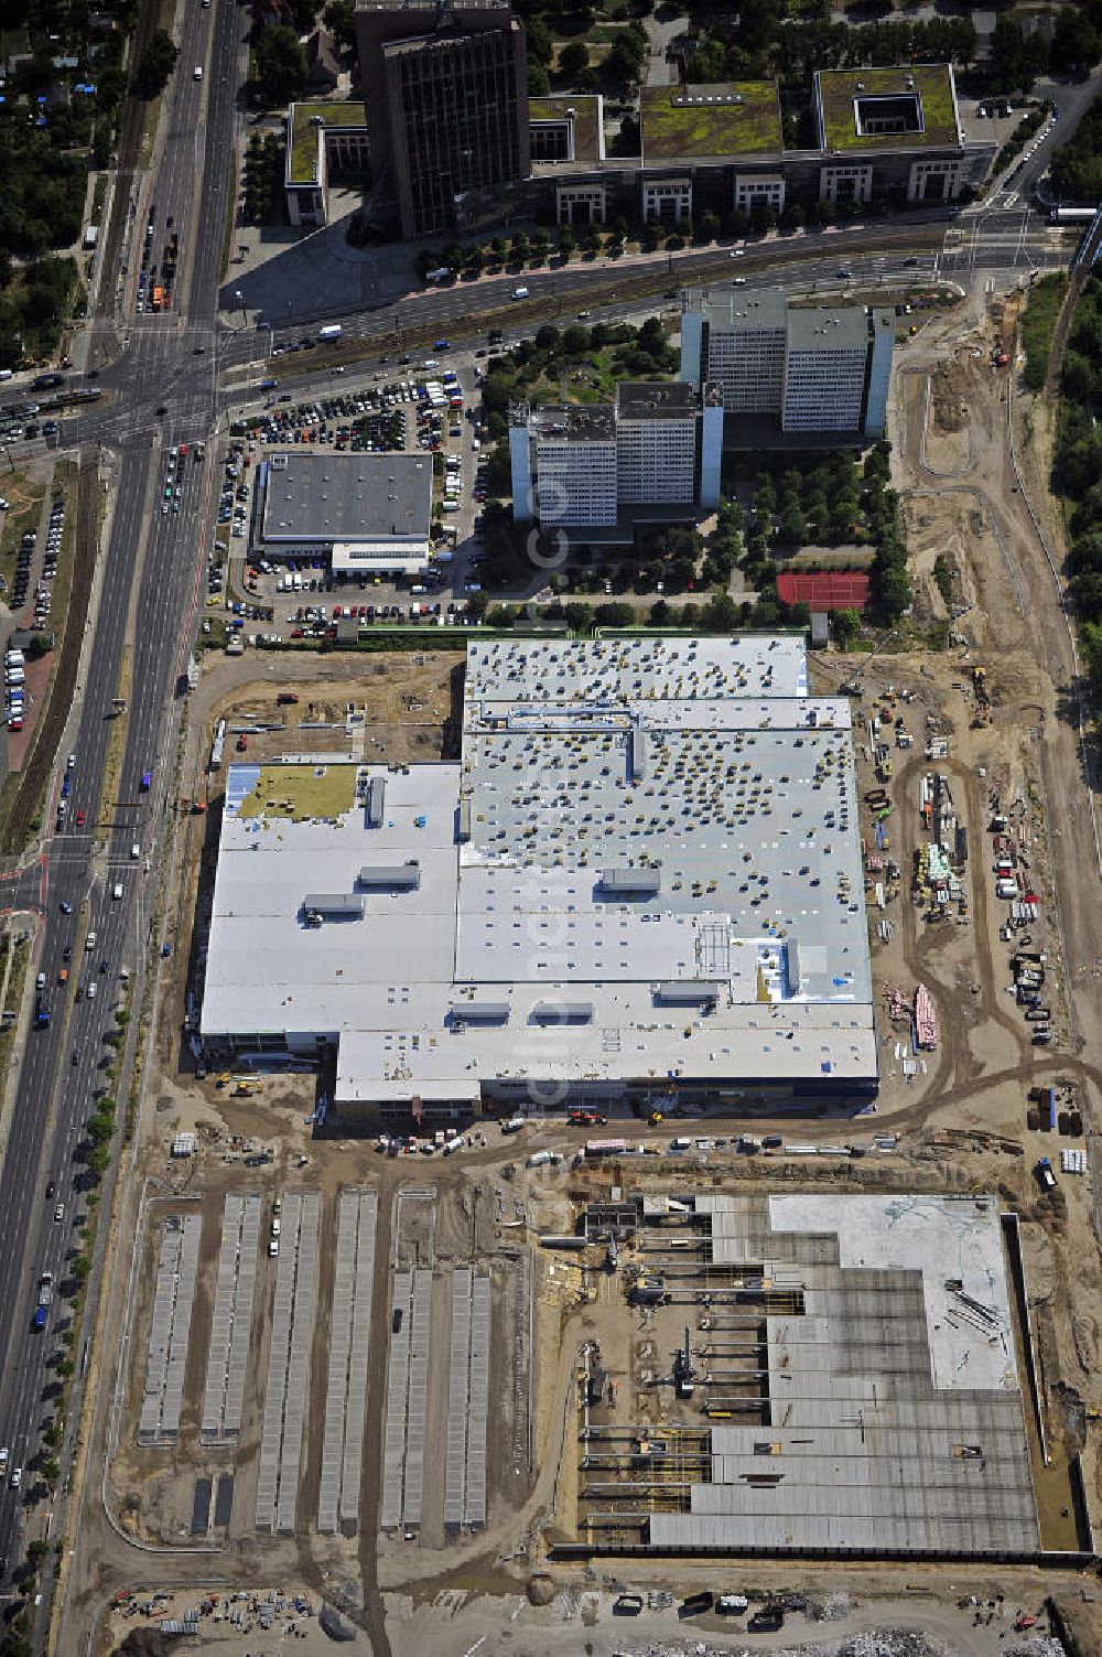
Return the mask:
<svg viewBox="0 0 1102 1657">
<path fill-rule="evenodd" d="M 643 159 L 781 154 L 776 81 L 645 86 L 640 99 Z"/>
</svg>

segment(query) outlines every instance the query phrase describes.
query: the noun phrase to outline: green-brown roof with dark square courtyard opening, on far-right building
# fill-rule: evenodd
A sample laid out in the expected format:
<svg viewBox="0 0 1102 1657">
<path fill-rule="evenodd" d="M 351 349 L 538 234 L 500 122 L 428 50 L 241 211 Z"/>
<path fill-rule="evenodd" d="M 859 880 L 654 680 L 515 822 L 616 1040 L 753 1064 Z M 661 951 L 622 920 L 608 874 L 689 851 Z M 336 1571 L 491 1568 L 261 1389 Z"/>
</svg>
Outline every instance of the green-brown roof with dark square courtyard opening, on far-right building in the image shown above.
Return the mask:
<svg viewBox="0 0 1102 1657">
<path fill-rule="evenodd" d="M 827 151 L 930 149 L 961 143 L 948 63 L 820 70 L 815 103 Z"/>
</svg>

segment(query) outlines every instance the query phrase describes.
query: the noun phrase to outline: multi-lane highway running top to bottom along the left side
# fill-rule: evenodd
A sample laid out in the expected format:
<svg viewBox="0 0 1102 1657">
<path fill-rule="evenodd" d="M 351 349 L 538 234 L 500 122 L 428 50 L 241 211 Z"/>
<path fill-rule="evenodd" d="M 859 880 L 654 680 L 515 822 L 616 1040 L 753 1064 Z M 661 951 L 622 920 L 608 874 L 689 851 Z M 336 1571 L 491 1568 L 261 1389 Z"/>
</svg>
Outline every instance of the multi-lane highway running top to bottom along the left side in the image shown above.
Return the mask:
<svg viewBox="0 0 1102 1657">
<path fill-rule="evenodd" d="M 126 963 L 139 966 L 147 943 L 147 898 L 169 804 L 176 679 L 186 663 L 214 462 L 179 461 L 179 510 L 171 502 L 164 502 L 167 512 L 159 507 L 166 451 L 205 436 L 214 416 L 210 346 L 245 30 L 247 18 L 234 7 L 182 13 L 181 73 L 162 157 L 119 249 L 129 275 L 139 262 L 149 205 L 157 225 L 174 219 L 182 249 L 174 310 L 133 320 L 123 356 L 103 373 L 109 388 L 104 404 L 119 418 L 91 436 L 116 449 L 109 467 L 113 517 L 98 572 L 94 633 L 66 739 L 66 752 L 75 756 L 66 827 L 46 837 L 30 868 L 3 883 L 3 906 L 33 906 L 41 915 L 35 971 L 45 973 L 51 1014 L 46 1029 L 27 1032 L 0 1171 L 0 1445 L 10 1468 L 25 1468 L 18 1491 L 10 1478 L 0 1490 L 5 1577 L 28 1539 L 23 1500 L 35 1488 L 30 1463 L 51 1412 L 50 1365 L 66 1316 L 55 1287 L 46 1329 L 33 1332 L 38 1283 L 51 1271 L 55 1284 L 63 1284 L 75 1253 L 73 1223 L 85 1206 L 76 1153 L 104 1089 L 111 1049 L 103 1037 L 114 1027 L 113 1007 L 124 991 L 119 971 Z M 196 65 L 204 66 L 202 83 L 191 73 Z M 109 280 L 103 290 L 111 293 Z M 93 338 L 103 350 L 109 335 L 94 330 Z M 167 408 L 167 418 L 154 416 L 157 406 Z M 83 439 L 80 428 L 66 431 L 63 441 L 73 437 Z M 111 717 L 116 694 L 128 698 L 121 724 Z M 113 756 L 111 797 L 101 800 L 113 741 L 121 754 Z M 76 827 L 80 812 L 83 828 Z M 55 824 L 53 797 L 43 822 L 46 828 Z M 121 898 L 113 896 L 116 885 Z M 70 969 L 66 988 L 58 986 L 63 964 Z M 96 994 L 89 996 L 93 983 Z M 141 976 L 131 993 L 141 993 Z M 48 1185 L 56 1188 L 50 1198 Z M 55 1220 L 56 1203 L 65 1206 L 61 1220 Z"/>
</svg>

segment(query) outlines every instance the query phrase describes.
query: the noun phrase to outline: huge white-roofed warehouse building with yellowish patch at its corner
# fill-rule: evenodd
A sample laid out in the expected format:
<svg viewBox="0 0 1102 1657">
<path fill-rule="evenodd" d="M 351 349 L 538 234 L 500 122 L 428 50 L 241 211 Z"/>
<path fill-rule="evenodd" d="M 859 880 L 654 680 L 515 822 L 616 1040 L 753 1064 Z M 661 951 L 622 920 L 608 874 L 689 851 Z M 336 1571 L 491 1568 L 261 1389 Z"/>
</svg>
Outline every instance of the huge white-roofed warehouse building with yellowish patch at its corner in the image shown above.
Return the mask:
<svg viewBox="0 0 1102 1657">
<path fill-rule="evenodd" d="M 383 1118 L 860 1105 L 848 703 L 797 638 L 472 641 L 459 764 L 230 766 L 201 1032 Z"/>
</svg>

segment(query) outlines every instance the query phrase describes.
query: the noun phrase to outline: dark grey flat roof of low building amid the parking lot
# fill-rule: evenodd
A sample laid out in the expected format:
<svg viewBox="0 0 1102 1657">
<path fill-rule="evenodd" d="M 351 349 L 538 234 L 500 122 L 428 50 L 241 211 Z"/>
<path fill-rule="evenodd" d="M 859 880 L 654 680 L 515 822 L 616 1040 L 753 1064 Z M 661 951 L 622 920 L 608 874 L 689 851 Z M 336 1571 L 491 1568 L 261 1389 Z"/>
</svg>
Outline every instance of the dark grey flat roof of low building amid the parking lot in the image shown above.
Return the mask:
<svg viewBox="0 0 1102 1657">
<path fill-rule="evenodd" d="M 423 540 L 429 532 L 428 454 L 290 451 L 268 459 L 265 540 Z"/>
</svg>

